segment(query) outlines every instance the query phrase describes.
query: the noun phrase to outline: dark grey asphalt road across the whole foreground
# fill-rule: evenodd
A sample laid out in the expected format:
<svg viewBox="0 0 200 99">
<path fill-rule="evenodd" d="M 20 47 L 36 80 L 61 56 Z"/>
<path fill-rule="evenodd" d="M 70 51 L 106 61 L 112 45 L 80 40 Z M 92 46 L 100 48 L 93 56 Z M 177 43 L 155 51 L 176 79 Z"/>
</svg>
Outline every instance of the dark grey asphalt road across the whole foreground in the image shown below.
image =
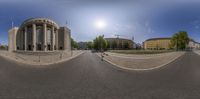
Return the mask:
<svg viewBox="0 0 200 99">
<path fill-rule="evenodd" d="M 48 68 L 0 57 L 0 99 L 200 99 L 200 56 L 160 69 L 121 70 L 90 52 Z"/>
</svg>

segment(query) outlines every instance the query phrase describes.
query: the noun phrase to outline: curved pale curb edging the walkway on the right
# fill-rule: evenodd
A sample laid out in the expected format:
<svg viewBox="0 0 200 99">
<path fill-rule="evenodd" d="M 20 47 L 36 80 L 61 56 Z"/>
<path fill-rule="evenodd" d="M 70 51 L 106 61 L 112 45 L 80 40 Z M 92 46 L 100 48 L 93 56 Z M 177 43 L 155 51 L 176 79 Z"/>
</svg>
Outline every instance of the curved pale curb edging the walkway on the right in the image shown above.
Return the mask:
<svg viewBox="0 0 200 99">
<path fill-rule="evenodd" d="M 149 71 L 149 70 L 155 70 L 155 69 L 161 68 L 161 67 L 163 67 L 163 66 L 166 66 L 166 65 L 172 63 L 173 61 L 179 59 L 179 58 L 180 58 L 181 56 L 183 56 L 184 54 L 185 54 L 185 52 L 184 52 L 183 54 L 181 54 L 180 56 L 177 56 L 176 58 L 174 58 L 173 60 L 170 60 L 169 62 L 167 62 L 167 63 L 165 63 L 165 64 L 162 64 L 162 65 L 159 65 L 159 66 L 156 66 L 156 67 L 153 67 L 153 68 L 148 68 L 148 69 L 132 69 L 132 68 L 127 68 L 127 67 L 123 67 L 123 66 L 117 65 L 117 64 L 115 64 L 115 63 L 113 63 L 113 62 L 111 62 L 111 61 L 109 61 L 108 59 L 105 59 L 105 58 L 104 58 L 103 60 L 105 60 L 106 62 L 110 63 L 110 64 L 113 65 L 113 66 L 116 66 L 116 67 L 118 67 L 118 68 L 120 68 L 120 69 L 124 69 L 124 70 L 131 70 L 131 71 Z M 96 54 L 96 55 L 99 56 L 99 57 L 101 58 L 100 55 L 98 55 L 98 54 Z"/>
</svg>

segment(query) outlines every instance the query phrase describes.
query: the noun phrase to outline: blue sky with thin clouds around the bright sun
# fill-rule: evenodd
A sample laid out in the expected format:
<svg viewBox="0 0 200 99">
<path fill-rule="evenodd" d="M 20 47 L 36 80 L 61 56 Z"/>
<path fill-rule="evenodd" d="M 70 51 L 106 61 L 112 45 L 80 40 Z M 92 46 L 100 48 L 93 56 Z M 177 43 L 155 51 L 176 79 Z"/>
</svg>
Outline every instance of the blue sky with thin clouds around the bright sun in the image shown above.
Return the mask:
<svg viewBox="0 0 200 99">
<path fill-rule="evenodd" d="M 171 37 L 187 31 L 200 42 L 198 0 L 0 0 L 0 44 L 8 43 L 8 30 L 28 19 L 45 17 L 71 29 L 76 41 L 98 35 L 133 39 Z M 98 20 L 105 22 L 97 28 Z"/>
</svg>

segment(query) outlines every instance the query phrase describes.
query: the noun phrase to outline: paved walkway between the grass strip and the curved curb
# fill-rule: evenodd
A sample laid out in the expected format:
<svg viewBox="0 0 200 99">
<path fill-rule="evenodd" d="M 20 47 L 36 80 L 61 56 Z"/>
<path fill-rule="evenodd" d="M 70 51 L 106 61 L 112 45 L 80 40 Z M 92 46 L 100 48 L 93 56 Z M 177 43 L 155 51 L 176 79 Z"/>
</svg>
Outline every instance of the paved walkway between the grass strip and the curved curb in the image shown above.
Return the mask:
<svg viewBox="0 0 200 99">
<path fill-rule="evenodd" d="M 130 55 L 106 52 L 104 59 L 123 69 L 150 70 L 162 67 L 182 56 L 185 52 L 169 52 L 162 54 Z M 100 53 L 98 53 L 99 56 Z"/>
</svg>

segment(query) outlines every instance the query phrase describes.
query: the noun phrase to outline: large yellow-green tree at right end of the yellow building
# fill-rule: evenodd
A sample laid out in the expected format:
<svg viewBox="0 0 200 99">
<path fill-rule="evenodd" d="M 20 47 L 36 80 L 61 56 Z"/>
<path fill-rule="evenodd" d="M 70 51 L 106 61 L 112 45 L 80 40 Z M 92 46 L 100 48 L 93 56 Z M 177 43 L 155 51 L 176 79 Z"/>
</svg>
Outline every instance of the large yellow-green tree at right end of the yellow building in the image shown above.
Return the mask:
<svg viewBox="0 0 200 99">
<path fill-rule="evenodd" d="M 187 32 L 179 31 L 175 33 L 171 38 L 171 48 L 176 48 L 177 50 L 186 49 L 187 44 L 189 43 L 189 37 Z"/>
</svg>

